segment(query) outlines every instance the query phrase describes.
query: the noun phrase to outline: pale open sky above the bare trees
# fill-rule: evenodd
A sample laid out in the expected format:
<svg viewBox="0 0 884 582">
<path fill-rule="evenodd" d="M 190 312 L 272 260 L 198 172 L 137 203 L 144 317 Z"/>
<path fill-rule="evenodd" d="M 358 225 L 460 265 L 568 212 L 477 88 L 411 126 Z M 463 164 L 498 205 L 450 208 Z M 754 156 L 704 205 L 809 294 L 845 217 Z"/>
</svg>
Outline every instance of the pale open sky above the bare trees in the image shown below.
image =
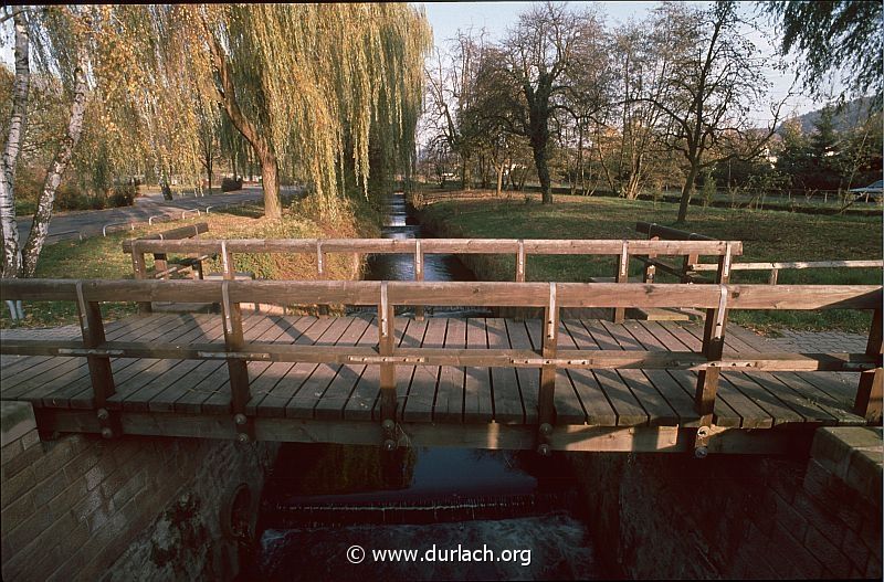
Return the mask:
<svg viewBox="0 0 884 582">
<path fill-rule="evenodd" d="M 572 9 L 579 9 L 582 4 L 592 4 L 593 2 L 568 2 Z M 612 25 L 624 24 L 631 18 L 641 20 L 646 17 L 655 6 L 660 2 L 630 2 L 630 1 L 607 1 L 594 2 L 601 12 L 606 15 L 606 22 Z M 693 1 L 688 2 L 697 7 L 708 6 L 712 2 Z M 530 2 L 425 2 L 423 4 L 427 11 L 427 18 L 433 28 L 433 38 L 436 46 L 444 46 L 445 40 L 453 39 L 457 30 L 467 30 L 471 27 L 474 30 L 484 28 L 491 40 L 502 39 L 507 31 L 507 28 L 514 25 L 518 20 L 518 14 L 525 10 Z M 751 14 L 755 9 L 755 2 L 740 3 L 740 10 L 745 14 Z M 749 38 L 756 45 L 767 55 L 774 55 L 776 52 L 775 44 L 778 42 L 776 31 L 769 27 L 765 27 L 762 31 L 753 31 Z M 792 74 L 785 74 L 776 71 L 772 66 L 765 67 L 765 76 L 772 84 L 770 99 L 782 99 L 792 83 Z M 783 113 L 801 115 L 813 109 L 822 107 L 823 104 L 814 103 L 807 97 L 792 97 L 787 102 Z M 768 109 L 754 112 L 754 120 L 758 125 L 766 125 L 770 118 Z"/>
</svg>

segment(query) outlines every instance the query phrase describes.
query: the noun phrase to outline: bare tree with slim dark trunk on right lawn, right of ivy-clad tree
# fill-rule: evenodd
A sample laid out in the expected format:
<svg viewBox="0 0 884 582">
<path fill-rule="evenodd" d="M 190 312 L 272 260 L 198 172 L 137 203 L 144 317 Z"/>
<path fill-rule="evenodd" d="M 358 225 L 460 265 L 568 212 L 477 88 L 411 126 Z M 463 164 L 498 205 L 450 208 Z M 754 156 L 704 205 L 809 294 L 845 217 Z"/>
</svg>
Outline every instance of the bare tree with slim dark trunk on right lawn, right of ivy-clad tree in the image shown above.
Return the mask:
<svg viewBox="0 0 884 582">
<path fill-rule="evenodd" d="M 677 222 L 687 218 L 701 170 L 728 158 L 757 156 L 774 135 L 786 100 L 771 106 L 774 120 L 766 131 L 754 131 L 748 114 L 761 105 L 770 84 L 761 55 L 740 24 L 730 1 L 706 10 L 680 3 L 656 9 L 653 50 L 672 65 L 661 92 L 641 99 L 662 112 L 662 141 L 686 161 Z M 733 144 L 724 147 L 727 141 Z M 736 144 L 743 145 L 741 151 Z"/>
</svg>

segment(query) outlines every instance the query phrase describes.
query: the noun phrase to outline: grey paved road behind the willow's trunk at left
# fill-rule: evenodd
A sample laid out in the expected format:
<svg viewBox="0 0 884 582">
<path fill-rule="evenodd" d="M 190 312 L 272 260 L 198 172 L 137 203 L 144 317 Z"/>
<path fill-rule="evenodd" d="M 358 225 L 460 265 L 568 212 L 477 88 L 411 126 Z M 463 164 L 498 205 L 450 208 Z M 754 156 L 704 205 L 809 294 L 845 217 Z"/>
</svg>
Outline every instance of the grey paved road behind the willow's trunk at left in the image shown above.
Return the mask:
<svg viewBox="0 0 884 582">
<path fill-rule="evenodd" d="M 293 193 L 293 190 L 284 189 L 283 193 Z M 180 219 L 181 212 L 185 210 L 204 211 L 206 207 L 214 209 L 261 200 L 262 197 L 263 192 L 260 187 L 245 187 L 235 192 L 214 193 L 199 198 L 189 195 L 176 198 L 172 201 L 164 200 L 159 193 L 152 193 L 138 197 L 133 207 L 62 212 L 52 216 L 46 244 L 78 237 L 101 236 L 102 230 L 107 224 L 147 222 L 151 216 L 164 216 L 160 220 Z M 117 229 L 122 227 L 122 225 L 117 226 Z M 19 221 L 19 237 L 22 244 L 30 230 L 30 218 Z M 108 229 L 108 231 L 110 230 L 113 226 Z"/>
</svg>

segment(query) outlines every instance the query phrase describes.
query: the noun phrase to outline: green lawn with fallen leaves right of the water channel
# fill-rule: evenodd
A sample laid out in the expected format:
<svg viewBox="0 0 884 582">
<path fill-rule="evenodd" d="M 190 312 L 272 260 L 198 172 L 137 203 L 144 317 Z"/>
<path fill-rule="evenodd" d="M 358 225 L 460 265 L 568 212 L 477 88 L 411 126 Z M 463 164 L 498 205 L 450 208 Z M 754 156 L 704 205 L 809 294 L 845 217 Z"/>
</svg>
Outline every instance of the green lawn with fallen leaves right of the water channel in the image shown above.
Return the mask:
<svg viewBox="0 0 884 582">
<path fill-rule="evenodd" d="M 557 195 L 544 207 L 539 197 L 523 193 L 498 200 L 461 200 L 428 204 L 422 209 L 427 227 L 439 236 L 483 239 L 642 239 L 636 221 L 656 222 L 722 240 L 744 243 L 739 262 L 872 260 L 882 256 L 881 216 L 825 216 L 775 211 L 692 208 L 688 222 L 675 225 L 677 205 L 611 198 Z M 515 257 L 472 255 L 470 266 L 480 279 L 512 281 Z M 704 262 L 713 262 L 705 257 Z M 528 281 L 583 282 L 612 276 L 614 257 L 529 256 Z M 642 265 L 631 262 L 630 275 Z M 766 283 L 768 272 L 735 272 L 734 283 Z M 881 284 L 876 268 L 787 269 L 781 284 Z M 672 282 L 657 271 L 657 281 Z M 778 328 L 838 329 L 866 334 L 870 314 L 825 311 L 732 311 L 730 320 L 762 332 Z"/>
</svg>

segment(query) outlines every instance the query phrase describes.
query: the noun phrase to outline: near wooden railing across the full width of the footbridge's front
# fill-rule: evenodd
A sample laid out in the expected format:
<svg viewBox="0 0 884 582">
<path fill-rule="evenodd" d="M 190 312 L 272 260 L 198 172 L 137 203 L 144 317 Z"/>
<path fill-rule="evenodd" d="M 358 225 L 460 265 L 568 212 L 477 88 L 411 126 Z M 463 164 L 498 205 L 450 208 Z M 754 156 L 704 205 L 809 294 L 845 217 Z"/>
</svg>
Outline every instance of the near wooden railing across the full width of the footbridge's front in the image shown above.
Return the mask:
<svg viewBox="0 0 884 582">
<path fill-rule="evenodd" d="M 144 244 L 152 244 L 145 242 Z M 250 247 L 244 245 L 243 247 Z M 211 248 L 199 247 L 203 251 Z M 365 246 L 362 248 L 368 248 Z M 118 413 L 107 399 L 115 384 L 110 358 L 223 359 L 228 363 L 231 410 L 238 437 L 254 437 L 246 363 L 301 361 L 358 363 L 380 367 L 381 420 L 386 445 L 397 419 L 397 366 L 461 366 L 539 368 L 537 402 L 539 446 L 547 445 L 555 425 L 555 379 L 560 368 L 688 369 L 698 372 L 695 392 L 701 430 L 696 448 L 705 452 L 722 370 L 860 371 L 854 412 L 878 419 L 882 409 L 882 287 L 875 285 L 686 285 L 642 283 L 427 283 L 427 282 L 261 282 L 261 281 L 71 281 L 3 279 L 2 299 L 75 301 L 82 341 L 4 340 L 0 352 L 14 355 L 82 356 L 88 360 L 95 408 L 103 434 L 119 434 Z M 206 301 L 222 306 L 224 342 L 161 345 L 107 341 L 99 304 L 104 301 Z M 375 347 L 317 347 L 245 341 L 241 303 L 304 305 L 339 303 L 372 305 L 378 309 Z M 520 306 L 544 309 L 543 343 L 529 349 L 397 348 L 394 307 L 418 305 Z M 558 347 L 560 310 L 566 307 L 694 307 L 706 309 L 701 352 L 562 350 Z M 864 353 L 741 353 L 723 356 L 730 309 L 874 309 Z M 548 451 L 548 446 L 546 448 Z"/>
</svg>

